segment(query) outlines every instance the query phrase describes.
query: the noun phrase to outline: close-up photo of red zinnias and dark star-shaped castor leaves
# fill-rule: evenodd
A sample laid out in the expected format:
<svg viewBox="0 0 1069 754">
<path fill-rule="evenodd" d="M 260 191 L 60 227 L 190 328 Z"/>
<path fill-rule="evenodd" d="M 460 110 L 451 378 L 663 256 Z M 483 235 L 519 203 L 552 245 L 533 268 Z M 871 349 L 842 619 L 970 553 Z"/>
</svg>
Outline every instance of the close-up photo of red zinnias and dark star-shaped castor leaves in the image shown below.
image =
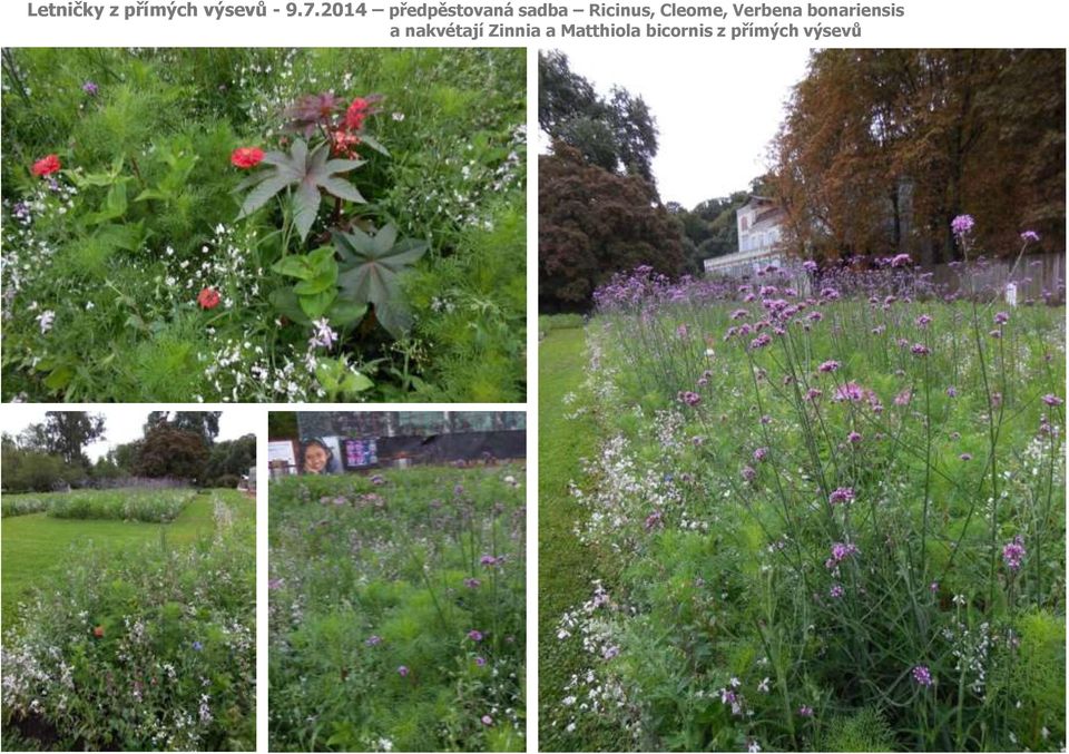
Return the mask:
<svg viewBox="0 0 1069 754">
<path fill-rule="evenodd" d="M 526 51 L 2 50 L 2 399 L 526 400 Z"/>
</svg>

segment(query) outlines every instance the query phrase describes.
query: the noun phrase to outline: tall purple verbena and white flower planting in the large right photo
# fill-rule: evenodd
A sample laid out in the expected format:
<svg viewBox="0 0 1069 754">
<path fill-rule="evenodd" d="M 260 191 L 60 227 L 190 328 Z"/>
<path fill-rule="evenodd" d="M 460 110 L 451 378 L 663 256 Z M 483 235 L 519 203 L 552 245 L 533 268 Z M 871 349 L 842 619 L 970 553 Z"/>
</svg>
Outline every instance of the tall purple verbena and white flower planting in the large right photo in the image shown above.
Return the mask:
<svg viewBox="0 0 1069 754">
<path fill-rule="evenodd" d="M 899 255 L 599 290 L 547 748 L 1065 747 L 1063 287 L 974 287 L 972 226 L 953 288 Z"/>
</svg>

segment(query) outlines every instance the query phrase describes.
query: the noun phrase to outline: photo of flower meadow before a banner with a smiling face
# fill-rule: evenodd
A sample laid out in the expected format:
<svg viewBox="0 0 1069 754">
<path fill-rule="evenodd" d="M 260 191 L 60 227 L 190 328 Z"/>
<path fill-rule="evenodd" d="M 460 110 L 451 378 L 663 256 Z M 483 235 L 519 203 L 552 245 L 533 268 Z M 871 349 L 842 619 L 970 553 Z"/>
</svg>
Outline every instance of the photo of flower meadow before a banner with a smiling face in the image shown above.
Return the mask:
<svg viewBox="0 0 1069 754">
<path fill-rule="evenodd" d="M 269 415 L 269 750 L 527 751 L 524 414 Z"/>
</svg>

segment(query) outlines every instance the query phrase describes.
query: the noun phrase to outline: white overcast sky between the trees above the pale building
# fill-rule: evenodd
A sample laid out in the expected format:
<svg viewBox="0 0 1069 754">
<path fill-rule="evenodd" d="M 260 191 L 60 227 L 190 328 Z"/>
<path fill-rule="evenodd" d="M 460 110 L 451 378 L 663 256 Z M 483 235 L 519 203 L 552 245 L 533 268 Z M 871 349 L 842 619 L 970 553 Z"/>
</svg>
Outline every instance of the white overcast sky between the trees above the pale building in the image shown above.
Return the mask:
<svg viewBox="0 0 1069 754">
<path fill-rule="evenodd" d="M 687 209 L 746 190 L 766 172 L 768 144 L 810 55 L 804 47 L 757 45 L 559 49 L 598 92 L 615 84 L 643 96 L 660 129 L 654 160 L 660 197 Z"/>
</svg>

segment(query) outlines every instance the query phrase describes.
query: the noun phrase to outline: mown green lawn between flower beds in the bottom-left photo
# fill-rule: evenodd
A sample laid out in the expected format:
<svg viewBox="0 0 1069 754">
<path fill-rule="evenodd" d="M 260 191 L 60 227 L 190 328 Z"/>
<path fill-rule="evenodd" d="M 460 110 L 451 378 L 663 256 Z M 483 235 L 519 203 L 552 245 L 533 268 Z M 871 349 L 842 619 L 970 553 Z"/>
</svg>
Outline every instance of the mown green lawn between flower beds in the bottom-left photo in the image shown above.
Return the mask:
<svg viewBox="0 0 1069 754">
<path fill-rule="evenodd" d="M 241 503 L 241 516 L 255 516 L 256 503 L 235 490 L 214 490 L 228 502 Z M 0 523 L 3 627 L 17 620 L 17 608 L 27 589 L 47 585 L 48 575 L 62 568 L 68 550 L 96 542 L 119 548 L 158 541 L 170 545 L 195 541 L 215 528 L 212 496 L 198 494 L 170 523 L 50 518 L 46 513 L 13 516 Z"/>
</svg>

